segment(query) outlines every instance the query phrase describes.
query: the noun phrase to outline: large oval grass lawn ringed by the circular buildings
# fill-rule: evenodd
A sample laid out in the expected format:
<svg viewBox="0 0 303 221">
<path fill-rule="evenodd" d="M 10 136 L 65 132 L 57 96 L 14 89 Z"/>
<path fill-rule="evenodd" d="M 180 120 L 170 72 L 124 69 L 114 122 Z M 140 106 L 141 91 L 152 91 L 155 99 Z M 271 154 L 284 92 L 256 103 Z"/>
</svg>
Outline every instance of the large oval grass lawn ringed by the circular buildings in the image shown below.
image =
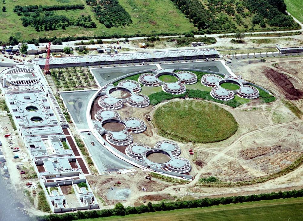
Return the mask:
<svg viewBox="0 0 303 221">
<path fill-rule="evenodd" d="M 238 129 L 238 123 L 227 110 L 195 100 L 178 100 L 158 107 L 153 123 L 159 135 L 181 142 L 218 142 Z"/>
</svg>

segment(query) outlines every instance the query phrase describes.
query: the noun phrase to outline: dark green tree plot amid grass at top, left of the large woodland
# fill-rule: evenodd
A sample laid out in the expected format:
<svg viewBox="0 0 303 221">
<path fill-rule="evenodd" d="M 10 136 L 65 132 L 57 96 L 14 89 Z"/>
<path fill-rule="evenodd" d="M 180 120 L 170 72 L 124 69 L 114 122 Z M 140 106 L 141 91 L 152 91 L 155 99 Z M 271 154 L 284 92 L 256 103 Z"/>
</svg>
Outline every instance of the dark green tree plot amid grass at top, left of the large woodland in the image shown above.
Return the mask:
<svg viewBox="0 0 303 221">
<path fill-rule="evenodd" d="M 93 6 L 93 12 L 97 15 L 99 22 L 104 24 L 106 28 L 125 26 L 132 23 L 131 16 L 119 4 L 118 0 L 86 0 L 86 3 Z"/>
</svg>

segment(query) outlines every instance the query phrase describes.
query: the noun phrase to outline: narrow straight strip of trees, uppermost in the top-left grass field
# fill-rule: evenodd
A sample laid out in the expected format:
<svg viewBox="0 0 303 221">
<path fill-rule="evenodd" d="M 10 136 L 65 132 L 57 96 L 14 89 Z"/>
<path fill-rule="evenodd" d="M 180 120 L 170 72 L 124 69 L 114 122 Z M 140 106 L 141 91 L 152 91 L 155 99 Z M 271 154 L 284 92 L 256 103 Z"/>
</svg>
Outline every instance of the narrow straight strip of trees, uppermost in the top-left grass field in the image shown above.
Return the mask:
<svg viewBox="0 0 303 221">
<path fill-rule="evenodd" d="M 84 9 L 84 5 L 16 5 L 13 12 L 45 12 L 58 10 Z"/>
</svg>

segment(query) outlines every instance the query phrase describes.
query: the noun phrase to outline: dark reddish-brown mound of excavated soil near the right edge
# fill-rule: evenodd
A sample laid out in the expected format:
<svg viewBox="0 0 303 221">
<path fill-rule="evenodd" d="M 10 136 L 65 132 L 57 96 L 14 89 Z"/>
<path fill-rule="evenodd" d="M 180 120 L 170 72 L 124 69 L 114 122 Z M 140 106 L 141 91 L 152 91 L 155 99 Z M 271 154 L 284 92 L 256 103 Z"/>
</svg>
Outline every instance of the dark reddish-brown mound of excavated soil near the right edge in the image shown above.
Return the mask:
<svg viewBox="0 0 303 221">
<path fill-rule="evenodd" d="M 299 100 L 303 97 L 303 91 L 296 89 L 288 80 L 287 75 L 270 68 L 265 69 L 264 73 L 268 79 L 281 89 L 288 100 Z"/>
</svg>

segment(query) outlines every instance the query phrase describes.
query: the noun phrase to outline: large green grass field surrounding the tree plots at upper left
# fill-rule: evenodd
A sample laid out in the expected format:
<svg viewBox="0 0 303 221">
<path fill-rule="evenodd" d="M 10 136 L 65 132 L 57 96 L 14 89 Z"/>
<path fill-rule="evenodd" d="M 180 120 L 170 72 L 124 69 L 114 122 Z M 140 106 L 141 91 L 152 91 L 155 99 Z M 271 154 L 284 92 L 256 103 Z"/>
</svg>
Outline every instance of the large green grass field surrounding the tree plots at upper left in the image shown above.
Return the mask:
<svg viewBox="0 0 303 221">
<path fill-rule="evenodd" d="M 63 2 L 63 3 L 62 3 Z M 6 7 L 7 12 L 0 12 L 0 39 L 7 41 L 9 36 L 15 36 L 19 40 L 32 39 L 38 37 L 63 37 L 63 36 L 94 36 L 94 35 L 111 35 L 117 34 L 144 34 L 144 35 L 157 35 L 161 32 L 174 32 L 183 33 L 196 28 L 181 11 L 170 0 L 120 0 L 119 3 L 125 10 L 132 16 L 133 23 L 129 26 L 105 28 L 96 19 L 95 14 L 92 12 L 92 7 L 86 5 L 85 1 L 81 0 L 5 0 L 5 4 L 1 1 L 0 6 Z M 91 15 L 92 20 L 96 23 L 97 28 L 83 28 L 69 26 L 65 30 L 61 28 L 47 32 L 36 32 L 32 26 L 22 26 L 21 16 L 13 12 L 15 5 L 67 5 L 67 4 L 84 4 L 83 10 L 61 10 L 55 11 L 56 13 L 72 17 L 78 15 Z M 169 22 L 168 22 L 169 21 Z"/>
</svg>

